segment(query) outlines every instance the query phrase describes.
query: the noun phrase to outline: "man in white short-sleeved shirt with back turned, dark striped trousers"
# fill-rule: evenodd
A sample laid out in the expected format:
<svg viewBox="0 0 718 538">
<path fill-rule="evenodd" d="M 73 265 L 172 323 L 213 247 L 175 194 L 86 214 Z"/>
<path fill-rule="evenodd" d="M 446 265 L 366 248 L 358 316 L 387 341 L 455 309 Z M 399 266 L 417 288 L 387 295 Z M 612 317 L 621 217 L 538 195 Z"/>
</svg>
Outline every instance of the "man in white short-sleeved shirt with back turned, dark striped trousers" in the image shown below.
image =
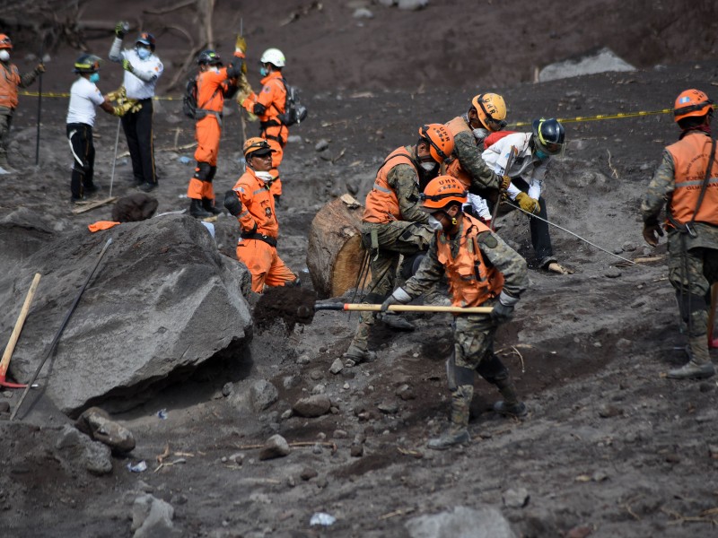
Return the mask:
<svg viewBox="0 0 718 538">
<path fill-rule="evenodd" d="M 92 181 L 95 163 L 95 147 L 92 143 L 95 107 L 102 108 L 108 114 L 119 115 L 122 112 L 113 108 L 109 99 L 103 96 L 95 85 L 95 82 L 100 80 L 98 56 L 83 54 L 78 57 L 73 71 L 78 76 L 70 89 L 66 127 L 74 160 L 70 179 L 70 201 L 74 204 L 85 195 L 92 195 L 99 188 Z"/>
</svg>

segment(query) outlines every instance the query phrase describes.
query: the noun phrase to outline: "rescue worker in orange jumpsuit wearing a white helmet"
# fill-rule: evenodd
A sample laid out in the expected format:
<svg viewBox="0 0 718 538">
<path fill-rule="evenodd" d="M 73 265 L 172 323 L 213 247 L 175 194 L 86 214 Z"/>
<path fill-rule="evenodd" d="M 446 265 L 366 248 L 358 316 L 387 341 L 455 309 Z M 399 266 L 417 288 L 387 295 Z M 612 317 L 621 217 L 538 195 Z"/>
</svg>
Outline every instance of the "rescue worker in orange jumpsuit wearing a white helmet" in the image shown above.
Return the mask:
<svg viewBox="0 0 718 538">
<path fill-rule="evenodd" d="M 282 163 L 286 139 L 289 136 L 289 128 L 279 119 L 279 115 L 285 113 L 286 88 L 282 76 L 285 64 L 285 55 L 281 50 L 267 48 L 259 58 L 262 89 L 255 93 L 247 84 L 245 88 L 249 94 L 241 100 L 241 107 L 259 118 L 259 136 L 267 140 L 274 150 L 270 170 L 274 179 L 270 188 L 277 202 L 282 195 L 279 165 Z"/>
</svg>

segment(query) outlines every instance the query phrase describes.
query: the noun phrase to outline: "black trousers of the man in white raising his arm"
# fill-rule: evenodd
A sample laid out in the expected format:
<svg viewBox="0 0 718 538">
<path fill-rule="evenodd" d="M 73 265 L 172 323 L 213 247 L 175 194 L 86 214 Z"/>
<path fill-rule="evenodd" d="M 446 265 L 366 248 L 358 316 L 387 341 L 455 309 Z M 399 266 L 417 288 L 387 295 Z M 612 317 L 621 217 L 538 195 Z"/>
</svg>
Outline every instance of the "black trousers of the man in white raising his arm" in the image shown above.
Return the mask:
<svg viewBox="0 0 718 538">
<path fill-rule="evenodd" d="M 153 103 L 151 99 L 137 101 L 142 108 L 122 117 L 127 148 L 132 160 L 132 174 L 137 183 L 157 183 L 154 170 L 154 142 L 152 130 Z"/>
</svg>

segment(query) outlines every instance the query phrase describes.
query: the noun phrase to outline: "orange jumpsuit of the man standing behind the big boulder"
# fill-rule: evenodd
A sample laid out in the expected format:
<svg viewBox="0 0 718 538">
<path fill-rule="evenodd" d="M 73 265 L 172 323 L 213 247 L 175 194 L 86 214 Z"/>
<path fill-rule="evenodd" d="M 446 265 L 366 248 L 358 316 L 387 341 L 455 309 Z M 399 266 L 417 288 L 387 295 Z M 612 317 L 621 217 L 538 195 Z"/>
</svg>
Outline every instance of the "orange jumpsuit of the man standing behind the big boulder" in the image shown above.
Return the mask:
<svg viewBox="0 0 718 538">
<path fill-rule="evenodd" d="M 267 183 L 248 168 L 232 190 L 242 204 L 242 212 L 237 215 L 241 227 L 237 259 L 250 270 L 252 291 L 261 293 L 265 286 L 284 286 L 296 281 L 296 274 L 276 254 L 279 223 L 275 198 Z"/>
</svg>

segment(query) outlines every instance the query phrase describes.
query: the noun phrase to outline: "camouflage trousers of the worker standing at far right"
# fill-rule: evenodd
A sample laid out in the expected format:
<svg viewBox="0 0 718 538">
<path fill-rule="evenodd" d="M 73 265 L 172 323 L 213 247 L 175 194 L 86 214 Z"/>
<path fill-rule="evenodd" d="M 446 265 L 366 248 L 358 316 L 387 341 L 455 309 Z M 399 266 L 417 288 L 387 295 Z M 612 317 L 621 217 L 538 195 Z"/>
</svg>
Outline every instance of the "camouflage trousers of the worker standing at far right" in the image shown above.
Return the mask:
<svg viewBox="0 0 718 538">
<path fill-rule="evenodd" d="M 676 290 L 680 317 L 687 326 L 688 336 L 705 336 L 711 285 L 718 282 L 718 249 L 684 250 L 682 241 L 682 234 L 669 234 L 669 281 Z"/>
</svg>

